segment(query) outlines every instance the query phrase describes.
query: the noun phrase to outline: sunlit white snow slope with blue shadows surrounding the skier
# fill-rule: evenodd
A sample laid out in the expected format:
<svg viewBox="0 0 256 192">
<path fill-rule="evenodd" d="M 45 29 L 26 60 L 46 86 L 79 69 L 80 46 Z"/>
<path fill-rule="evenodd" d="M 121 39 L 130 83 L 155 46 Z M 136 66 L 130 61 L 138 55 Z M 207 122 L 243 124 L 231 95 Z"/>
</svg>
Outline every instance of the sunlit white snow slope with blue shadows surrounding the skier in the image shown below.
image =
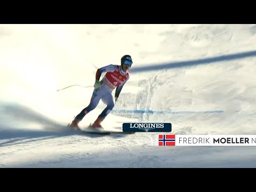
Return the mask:
<svg viewBox="0 0 256 192">
<path fill-rule="evenodd" d="M 92 86 L 97 67 L 131 54 L 130 81 L 106 128 L 170 122 L 174 134 L 256 134 L 255 43 L 256 25 L 0 25 L 0 167 L 256 167 L 254 147 L 71 132 L 92 87 L 57 91 Z"/>
</svg>

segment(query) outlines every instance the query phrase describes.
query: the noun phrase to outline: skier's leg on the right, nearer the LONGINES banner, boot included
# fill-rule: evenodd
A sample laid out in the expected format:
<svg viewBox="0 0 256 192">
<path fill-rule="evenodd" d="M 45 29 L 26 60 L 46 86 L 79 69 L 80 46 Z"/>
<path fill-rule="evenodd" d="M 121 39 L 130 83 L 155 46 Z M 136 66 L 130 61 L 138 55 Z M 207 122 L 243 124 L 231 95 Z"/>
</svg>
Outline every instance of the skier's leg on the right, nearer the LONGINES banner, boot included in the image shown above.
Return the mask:
<svg viewBox="0 0 256 192">
<path fill-rule="evenodd" d="M 111 110 L 115 106 L 114 98 L 111 93 L 107 93 L 102 97 L 102 102 L 107 105 L 107 107 L 102 111 L 102 113 L 98 116 L 95 122 L 92 124 L 92 127 L 101 127 L 101 122 L 105 119 L 105 117 L 111 112 Z"/>
</svg>

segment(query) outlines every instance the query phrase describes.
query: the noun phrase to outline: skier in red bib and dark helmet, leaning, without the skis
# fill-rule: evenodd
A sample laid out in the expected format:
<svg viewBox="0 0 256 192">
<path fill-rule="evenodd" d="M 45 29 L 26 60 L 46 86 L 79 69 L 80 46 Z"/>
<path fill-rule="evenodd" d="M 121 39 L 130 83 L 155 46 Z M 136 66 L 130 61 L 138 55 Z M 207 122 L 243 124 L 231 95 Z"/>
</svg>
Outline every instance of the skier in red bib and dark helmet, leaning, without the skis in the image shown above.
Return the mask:
<svg viewBox="0 0 256 192">
<path fill-rule="evenodd" d="M 97 70 L 90 104 L 75 117 L 75 119 L 69 125 L 71 128 L 80 129 L 78 123 L 82 121 L 86 114 L 95 109 L 98 106 L 99 101 L 102 100 L 107 107 L 102 111 L 91 127 L 103 129 L 101 123 L 114 108 L 115 102 L 117 101 L 124 84 L 129 80 L 129 69 L 132 66 L 132 63 L 133 61 L 131 55 L 124 55 L 121 58 L 121 65 L 110 64 Z M 100 76 L 103 72 L 107 73 L 100 81 Z M 114 102 L 112 92 L 115 88 L 116 92 Z"/>
</svg>

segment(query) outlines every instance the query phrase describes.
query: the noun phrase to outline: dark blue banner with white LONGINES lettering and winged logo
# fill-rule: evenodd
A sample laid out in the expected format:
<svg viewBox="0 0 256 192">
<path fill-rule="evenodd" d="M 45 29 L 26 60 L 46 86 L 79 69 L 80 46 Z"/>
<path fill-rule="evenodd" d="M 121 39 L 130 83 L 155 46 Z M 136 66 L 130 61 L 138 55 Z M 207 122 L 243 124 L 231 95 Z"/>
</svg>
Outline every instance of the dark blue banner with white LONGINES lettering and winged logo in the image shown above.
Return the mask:
<svg viewBox="0 0 256 192">
<path fill-rule="evenodd" d="M 171 132 L 171 123 L 123 123 L 123 132 Z"/>
</svg>

